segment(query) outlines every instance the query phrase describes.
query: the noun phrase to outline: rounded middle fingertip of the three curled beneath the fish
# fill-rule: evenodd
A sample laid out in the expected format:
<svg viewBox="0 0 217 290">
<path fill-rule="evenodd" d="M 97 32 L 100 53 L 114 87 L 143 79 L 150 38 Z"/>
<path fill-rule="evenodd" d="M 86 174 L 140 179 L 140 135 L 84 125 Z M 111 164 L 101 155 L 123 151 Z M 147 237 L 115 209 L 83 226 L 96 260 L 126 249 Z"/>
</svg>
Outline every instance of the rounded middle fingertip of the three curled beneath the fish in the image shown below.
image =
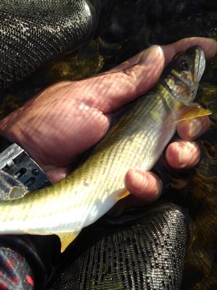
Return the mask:
<svg viewBox="0 0 217 290">
<path fill-rule="evenodd" d="M 190 168 L 199 162 L 200 148 L 195 142 L 173 142 L 166 149 L 166 160 L 174 169 Z"/>
</svg>

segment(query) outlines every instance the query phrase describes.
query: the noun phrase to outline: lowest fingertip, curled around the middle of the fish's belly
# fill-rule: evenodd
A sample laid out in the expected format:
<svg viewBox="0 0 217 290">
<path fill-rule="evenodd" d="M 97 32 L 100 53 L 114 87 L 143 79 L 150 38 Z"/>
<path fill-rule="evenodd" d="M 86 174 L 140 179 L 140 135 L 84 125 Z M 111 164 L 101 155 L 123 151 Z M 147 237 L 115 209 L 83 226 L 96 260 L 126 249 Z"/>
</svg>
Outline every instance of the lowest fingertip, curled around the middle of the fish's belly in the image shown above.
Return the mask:
<svg viewBox="0 0 217 290">
<path fill-rule="evenodd" d="M 131 169 L 125 176 L 125 186 L 135 197 L 139 204 L 155 201 L 161 194 L 163 185 L 160 179 L 151 172 Z"/>
</svg>

